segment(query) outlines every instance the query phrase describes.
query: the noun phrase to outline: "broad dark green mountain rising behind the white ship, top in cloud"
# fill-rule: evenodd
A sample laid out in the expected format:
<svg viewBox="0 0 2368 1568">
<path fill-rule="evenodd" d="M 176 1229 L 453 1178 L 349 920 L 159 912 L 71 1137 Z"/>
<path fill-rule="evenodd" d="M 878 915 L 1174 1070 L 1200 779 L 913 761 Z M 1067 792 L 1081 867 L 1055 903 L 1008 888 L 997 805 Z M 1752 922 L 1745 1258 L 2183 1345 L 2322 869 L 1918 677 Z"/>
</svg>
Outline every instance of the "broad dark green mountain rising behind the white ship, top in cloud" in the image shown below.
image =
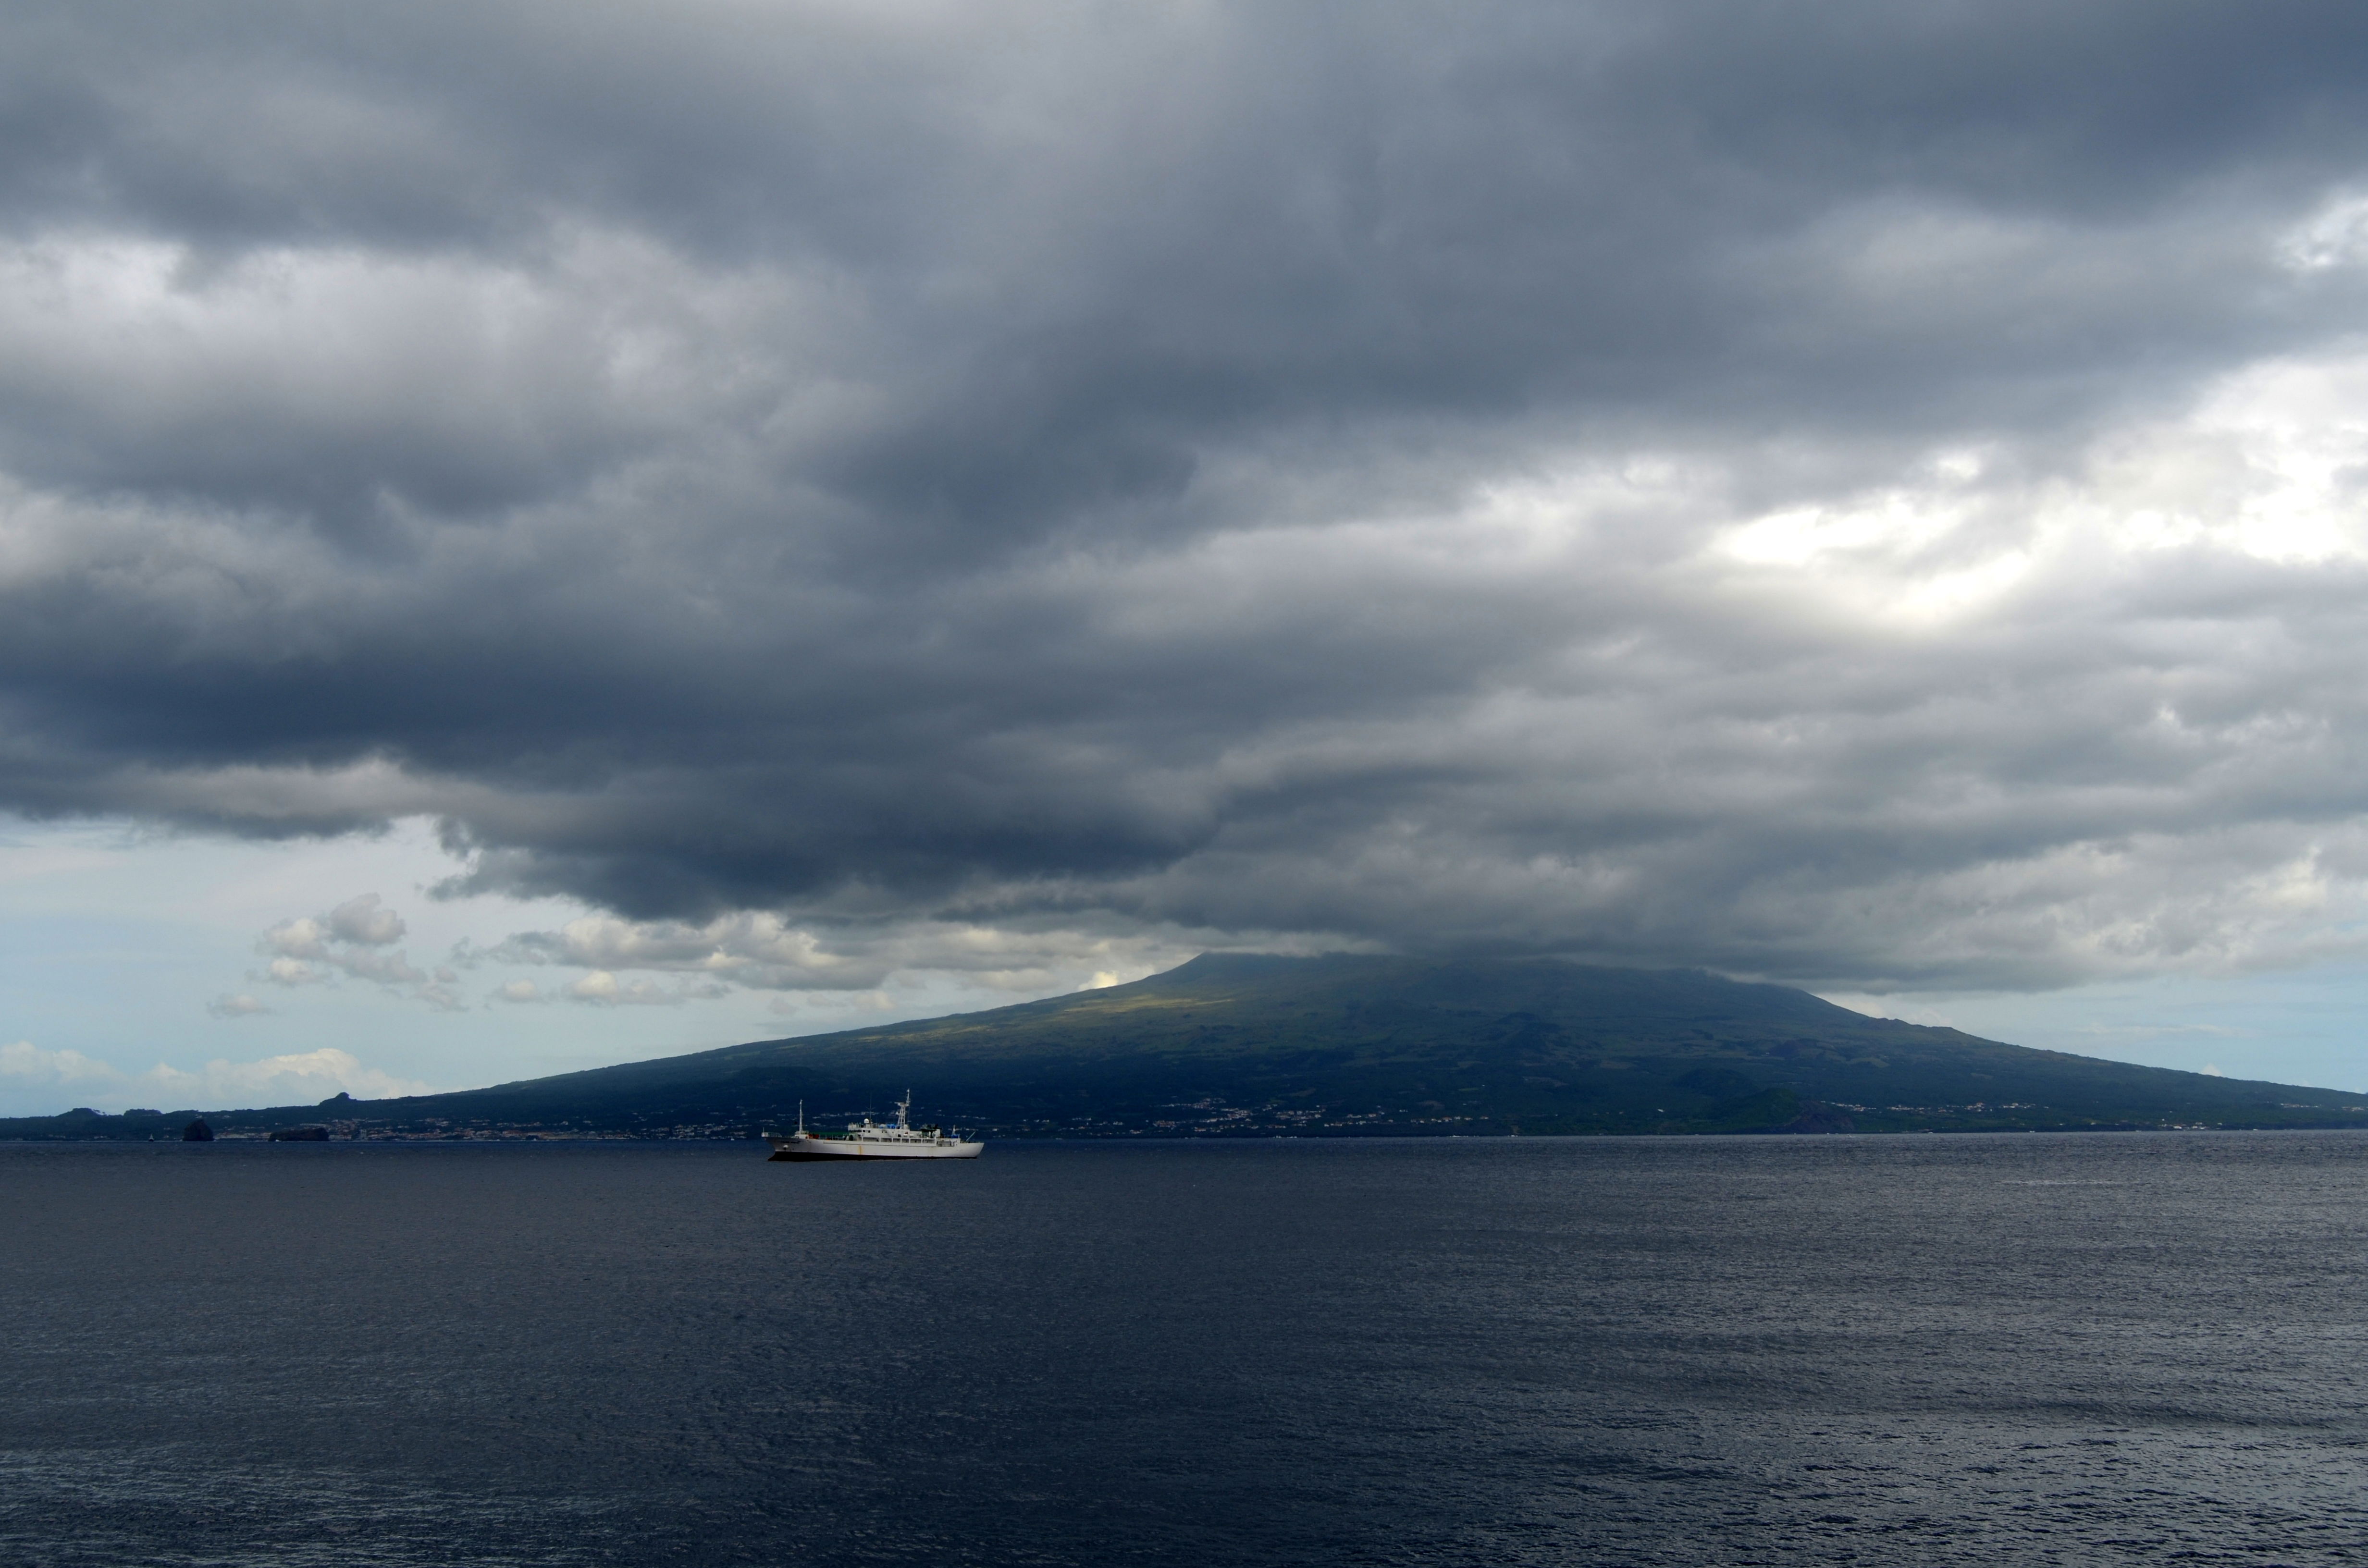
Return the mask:
<svg viewBox="0 0 2368 1568">
<path fill-rule="evenodd" d="M 829 1127 L 907 1087 L 916 1116 L 992 1137 L 2368 1125 L 2363 1094 L 2034 1052 L 1698 971 L 1243 955 L 983 1014 L 208 1118 L 732 1132 L 800 1099 Z"/>
</svg>

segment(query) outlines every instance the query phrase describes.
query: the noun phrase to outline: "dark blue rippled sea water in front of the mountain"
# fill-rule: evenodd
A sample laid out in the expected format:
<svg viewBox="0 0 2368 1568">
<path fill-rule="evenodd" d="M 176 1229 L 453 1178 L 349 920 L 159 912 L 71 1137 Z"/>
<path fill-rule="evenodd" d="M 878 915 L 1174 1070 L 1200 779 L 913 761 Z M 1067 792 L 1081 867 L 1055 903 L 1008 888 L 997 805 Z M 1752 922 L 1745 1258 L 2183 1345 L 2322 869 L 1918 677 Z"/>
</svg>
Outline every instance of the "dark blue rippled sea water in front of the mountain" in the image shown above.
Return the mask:
<svg viewBox="0 0 2368 1568">
<path fill-rule="evenodd" d="M 2368 1137 L 0 1146 L 0 1561 L 2359 1563 Z"/>
</svg>

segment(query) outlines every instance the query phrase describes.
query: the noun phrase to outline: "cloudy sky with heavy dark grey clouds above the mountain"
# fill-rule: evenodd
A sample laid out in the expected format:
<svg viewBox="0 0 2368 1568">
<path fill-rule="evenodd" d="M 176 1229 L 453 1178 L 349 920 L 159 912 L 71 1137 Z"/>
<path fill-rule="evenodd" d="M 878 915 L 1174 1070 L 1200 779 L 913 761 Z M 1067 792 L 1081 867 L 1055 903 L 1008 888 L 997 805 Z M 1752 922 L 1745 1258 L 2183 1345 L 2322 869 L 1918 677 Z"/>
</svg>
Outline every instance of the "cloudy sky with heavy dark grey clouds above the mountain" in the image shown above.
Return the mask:
<svg viewBox="0 0 2368 1568">
<path fill-rule="evenodd" d="M 2363 1087 L 2368 12 L 0 12 L 0 1113 L 1210 947 Z"/>
</svg>

